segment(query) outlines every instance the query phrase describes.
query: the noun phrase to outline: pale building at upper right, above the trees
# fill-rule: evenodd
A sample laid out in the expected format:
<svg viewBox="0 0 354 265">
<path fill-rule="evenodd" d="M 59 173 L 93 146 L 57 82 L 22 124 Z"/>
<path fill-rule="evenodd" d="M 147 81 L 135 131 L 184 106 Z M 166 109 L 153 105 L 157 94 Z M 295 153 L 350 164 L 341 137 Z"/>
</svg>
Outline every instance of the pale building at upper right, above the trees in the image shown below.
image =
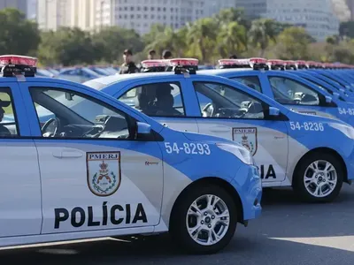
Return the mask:
<svg viewBox="0 0 354 265">
<path fill-rule="evenodd" d="M 236 4 L 249 17 L 276 19 L 304 27 L 318 41 L 339 31 L 332 0 L 237 0 Z"/>
</svg>

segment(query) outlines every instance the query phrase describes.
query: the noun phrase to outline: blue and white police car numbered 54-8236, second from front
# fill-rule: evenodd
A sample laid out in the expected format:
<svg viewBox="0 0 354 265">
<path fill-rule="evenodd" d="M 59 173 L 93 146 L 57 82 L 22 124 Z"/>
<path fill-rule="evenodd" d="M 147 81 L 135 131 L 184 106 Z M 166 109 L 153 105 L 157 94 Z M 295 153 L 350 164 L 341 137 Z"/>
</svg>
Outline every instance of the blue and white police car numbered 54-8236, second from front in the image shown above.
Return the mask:
<svg viewBox="0 0 354 265">
<path fill-rule="evenodd" d="M 293 186 L 306 201 L 333 201 L 342 183 L 354 178 L 350 125 L 293 112 L 257 89 L 198 72 L 196 59 L 157 61 L 145 68 L 164 71 L 164 64 L 173 71 L 116 75 L 85 85 L 173 129 L 241 143 L 255 158 L 265 187 Z"/>
</svg>

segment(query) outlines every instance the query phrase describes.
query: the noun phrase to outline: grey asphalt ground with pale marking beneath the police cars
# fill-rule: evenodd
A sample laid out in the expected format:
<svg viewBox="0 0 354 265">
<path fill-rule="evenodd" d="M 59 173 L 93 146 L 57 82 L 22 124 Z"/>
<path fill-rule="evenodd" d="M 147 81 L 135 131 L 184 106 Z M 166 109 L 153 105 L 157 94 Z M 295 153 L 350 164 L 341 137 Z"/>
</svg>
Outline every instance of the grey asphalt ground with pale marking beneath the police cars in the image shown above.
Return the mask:
<svg viewBox="0 0 354 265">
<path fill-rule="evenodd" d="M 335 203 L 304 204 L 290 190 L 266 191 L 263 216 L 237 227 L 219 254 L 181 254 L 165 237 L 123 242 L 105 239 L 59 246 L 0 250 L 12 264 L 257 264 L 353 265 L 354 186 L 343 186 Z"/>
</svg>

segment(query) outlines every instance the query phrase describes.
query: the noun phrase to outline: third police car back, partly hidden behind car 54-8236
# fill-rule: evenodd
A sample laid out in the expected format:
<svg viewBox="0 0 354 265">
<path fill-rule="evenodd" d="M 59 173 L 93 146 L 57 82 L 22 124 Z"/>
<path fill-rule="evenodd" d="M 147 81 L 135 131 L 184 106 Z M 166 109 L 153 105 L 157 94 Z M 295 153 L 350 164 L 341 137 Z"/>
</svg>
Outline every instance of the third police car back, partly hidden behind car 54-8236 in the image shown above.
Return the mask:
<svg viewBox="0 0 354 265">
<path fill-rule="evenodd" d="M 273 71 L 280 60 L 264 58 L 221 59 L 224 69 L 205 70 L 205 74 L 233 79 L 299 113 L 341 119 L 354 125 L 354 103 L 331 95 L 312 82 L 291 72 Z"/>
</svg>

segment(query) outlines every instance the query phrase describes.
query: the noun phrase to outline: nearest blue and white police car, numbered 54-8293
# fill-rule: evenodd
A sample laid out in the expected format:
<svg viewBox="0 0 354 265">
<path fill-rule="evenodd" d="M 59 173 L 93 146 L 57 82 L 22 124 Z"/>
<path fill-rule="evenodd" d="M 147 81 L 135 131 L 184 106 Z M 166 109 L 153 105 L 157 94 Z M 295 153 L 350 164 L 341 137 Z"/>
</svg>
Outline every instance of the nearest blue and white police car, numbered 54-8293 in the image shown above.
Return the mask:
<svg viewBox="0 0 354 265">
<path fill-rule="evenodd" d="M 213 253 L 236 223 L 260 215 L 246 148 L 173 131 L 78 83 L 35 78 L 36 62 L 0 57 L 0 117 L 12 117 L 0 125 L 0 246 L 170 231 L 190 252 Z M 54 116 L 41 125 L 42 108 Z"/>
</svg>

